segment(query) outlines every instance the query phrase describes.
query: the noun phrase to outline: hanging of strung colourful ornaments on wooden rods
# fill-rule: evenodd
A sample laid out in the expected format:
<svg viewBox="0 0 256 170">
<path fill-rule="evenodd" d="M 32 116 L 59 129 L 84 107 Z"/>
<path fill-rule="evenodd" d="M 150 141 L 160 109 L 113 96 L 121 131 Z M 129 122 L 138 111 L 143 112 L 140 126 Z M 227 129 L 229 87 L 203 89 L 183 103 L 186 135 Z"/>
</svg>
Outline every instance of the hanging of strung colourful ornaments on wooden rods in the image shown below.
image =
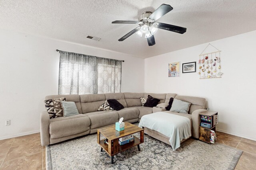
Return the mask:
<svg viewBox="0 0 256 170">
<path fill-rule="evenodd" d="M 199 55 L 198 65 L 199 65 L 199 76 L 200 79 L 207 79 L 207 78 L 221 78 L 223 75 L 222 72 L 220 72 L 220 50 L 210 52 L 210 53 L 204 53 L 204 51 L 211 45 L 210 43 L 206 46 L 206 48 L 202 51 L 202 53 Z"/>
</svg>

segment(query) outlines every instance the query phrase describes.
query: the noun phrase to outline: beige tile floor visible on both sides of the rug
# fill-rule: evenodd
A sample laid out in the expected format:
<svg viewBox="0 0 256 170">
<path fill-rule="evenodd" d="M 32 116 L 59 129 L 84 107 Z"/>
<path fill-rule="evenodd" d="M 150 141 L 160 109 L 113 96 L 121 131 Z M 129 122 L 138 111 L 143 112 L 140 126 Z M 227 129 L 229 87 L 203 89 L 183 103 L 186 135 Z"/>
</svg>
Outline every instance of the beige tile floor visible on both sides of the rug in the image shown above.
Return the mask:
<svg viewBox="0 0 256 170">
<path fill-rule="evenodd" d="M 218 143 L 243 150 L 235 170 L 256 169 L 256 141 L 217 132 Z M 0 170 L 44 170 L 40 133 L 0 141 Z"/>
</svg>

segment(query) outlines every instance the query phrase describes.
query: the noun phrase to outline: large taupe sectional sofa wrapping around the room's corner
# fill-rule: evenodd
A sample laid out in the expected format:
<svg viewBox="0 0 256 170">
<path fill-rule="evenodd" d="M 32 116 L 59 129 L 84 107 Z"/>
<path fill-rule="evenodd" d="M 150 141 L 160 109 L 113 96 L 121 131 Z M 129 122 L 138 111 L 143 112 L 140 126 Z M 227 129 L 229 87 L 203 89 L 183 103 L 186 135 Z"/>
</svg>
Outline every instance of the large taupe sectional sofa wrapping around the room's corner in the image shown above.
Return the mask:
<svg viewBox="0 0 256 170">
<path fill-rule="evenodd" d="M 124 121 L 135 123 L 141 117 L 152 113 L 152 107 L 141 106 L 141 97 L 151 95 L 160 99 L 159 103 L 168 104 L 170 98 L 176 98 L 190 102 L 189 114 L 165 111 L 172 114 L 186 116 L 190 119 L 192 137 L 199 137 L 200 115 L 205 108 L 204 98 L 191 96 L 177 96 L 177 94 L 153 94 L 153 93 L 111 93 L 111 94 L 84 94 L 84 95 L 52 95 L 46 96 L 46 100 L 65 97 L 66 101 L 73 101 L 80 114 L 69 117 L 56 117 L 50 119 L 47 111 L 40 115 L 40 135 L 42 146 L 58 143 L 89 133 L 96 133 L 97 129 L 116 123 L 121 117 Z M 124 109 L 119 111 L 97 111 L 108 99 L 116 99 Z"/>
</svg>

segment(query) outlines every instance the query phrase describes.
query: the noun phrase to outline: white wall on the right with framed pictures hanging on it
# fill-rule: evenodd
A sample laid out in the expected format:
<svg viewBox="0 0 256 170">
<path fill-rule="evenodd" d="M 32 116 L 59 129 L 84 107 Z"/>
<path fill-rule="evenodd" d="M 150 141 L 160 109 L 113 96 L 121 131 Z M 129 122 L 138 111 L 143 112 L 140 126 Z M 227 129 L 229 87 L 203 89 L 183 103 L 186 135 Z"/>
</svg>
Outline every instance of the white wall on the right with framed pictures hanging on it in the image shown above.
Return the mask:
<svg viewBox="0 0 256 170">
<path fill-rule="evenodd" d="M 179 78 L 168 77 L 168 63 L 198 63 L 207 44 L 147 58 L 145 92 L 204 97 L 207 107 L 218 111 L 219 131 L 256 141 L 255 40 L 256 31 L 252 31 L 210 42 L 222 51 L 222 78 L 200 80 L 198 73 L 182 74 L 182 68 Z"/>
</svg>

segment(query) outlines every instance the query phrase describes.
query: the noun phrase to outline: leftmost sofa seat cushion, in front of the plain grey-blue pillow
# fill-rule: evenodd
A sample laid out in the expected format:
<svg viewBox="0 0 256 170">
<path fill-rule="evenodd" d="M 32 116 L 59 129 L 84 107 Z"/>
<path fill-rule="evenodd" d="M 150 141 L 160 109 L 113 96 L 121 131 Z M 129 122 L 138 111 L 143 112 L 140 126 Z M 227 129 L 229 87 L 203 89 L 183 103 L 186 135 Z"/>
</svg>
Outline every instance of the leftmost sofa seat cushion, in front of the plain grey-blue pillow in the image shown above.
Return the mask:
<svg viewBox="0 0 256 170">
<path fill-rule="evenodd" d="M 83 114 L 50 119 L 50 138 L 56 139 L 88 131 L 90 119 Z"/>
</svg>

